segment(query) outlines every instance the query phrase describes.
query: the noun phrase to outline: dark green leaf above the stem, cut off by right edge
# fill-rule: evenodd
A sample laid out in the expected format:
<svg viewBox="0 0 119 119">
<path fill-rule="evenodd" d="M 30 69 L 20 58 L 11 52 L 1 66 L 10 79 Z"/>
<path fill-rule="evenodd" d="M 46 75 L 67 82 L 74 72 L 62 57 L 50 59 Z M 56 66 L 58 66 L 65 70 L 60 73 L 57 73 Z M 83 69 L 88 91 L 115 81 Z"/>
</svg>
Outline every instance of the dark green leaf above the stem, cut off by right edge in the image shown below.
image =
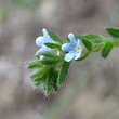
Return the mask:
<svg viewBox="0 0 119 119">
<path fill-rule="evenodd" d="M 114 38 L 119 38 L 119 28 L 105 28 L 105 30 Z"/>
</svg>

